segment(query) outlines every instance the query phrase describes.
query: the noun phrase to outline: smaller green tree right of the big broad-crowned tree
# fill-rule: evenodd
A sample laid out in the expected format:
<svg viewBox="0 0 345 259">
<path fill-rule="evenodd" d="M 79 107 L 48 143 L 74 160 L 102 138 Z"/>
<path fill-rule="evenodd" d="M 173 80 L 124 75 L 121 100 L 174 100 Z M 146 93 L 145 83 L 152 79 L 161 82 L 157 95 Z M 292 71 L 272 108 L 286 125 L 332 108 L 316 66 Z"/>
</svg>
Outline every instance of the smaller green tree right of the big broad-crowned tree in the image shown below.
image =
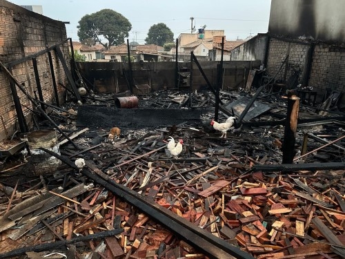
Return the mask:
<svg viewBox="0 0 345 259">
<path fill-rule="evenodd" d="M 165 23 L 157 23 L 150 27 L 148 30 L 148 37 L 146 37 L 145 41 L 146 44 L 163 46 L 167 42 L 174 41 L 174 34 Z"/>
</svg>

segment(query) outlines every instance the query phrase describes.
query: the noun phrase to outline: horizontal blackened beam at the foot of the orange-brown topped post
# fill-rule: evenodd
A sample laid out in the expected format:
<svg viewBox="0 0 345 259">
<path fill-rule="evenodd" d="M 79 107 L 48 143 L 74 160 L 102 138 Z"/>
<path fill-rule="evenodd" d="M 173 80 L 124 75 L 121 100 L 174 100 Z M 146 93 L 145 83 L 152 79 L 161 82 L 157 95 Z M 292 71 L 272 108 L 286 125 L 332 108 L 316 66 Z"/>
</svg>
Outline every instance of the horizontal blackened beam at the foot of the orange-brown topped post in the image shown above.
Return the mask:
<svg viewBox="0 0 345 259">
<path fill-rule="evenodd" d="M 275 172 L 275 171 L 316 171 L 316 170 L 341 170 L 345 169 L 345 162 L 311 163 L 311 164 L 255 164 L 255 171 Z"/>
</svg>

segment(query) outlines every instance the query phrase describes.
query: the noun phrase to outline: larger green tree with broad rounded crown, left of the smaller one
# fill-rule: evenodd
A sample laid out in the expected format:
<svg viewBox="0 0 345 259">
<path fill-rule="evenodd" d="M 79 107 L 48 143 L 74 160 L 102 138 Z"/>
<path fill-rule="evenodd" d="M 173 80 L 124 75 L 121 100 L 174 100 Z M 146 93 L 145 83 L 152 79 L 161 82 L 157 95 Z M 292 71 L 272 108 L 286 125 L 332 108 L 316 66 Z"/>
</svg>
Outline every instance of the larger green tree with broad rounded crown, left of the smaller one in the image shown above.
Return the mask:
<svg viewBox="0 0 345 259">
<path fill-rule="evenodd" d="M 103 45 L 105 48 L 123 44 L 128 32 L 132 29 L 132 24 L 126 17 L 119 12 L 110 9 L 103 9 L 91 15 L 81 17 L 78 22 L 78 37 L 80 41 L 94 39 L 95 42 Z M 108 43 L 101 42 L 102 37 L 108 40 Z"/>
</svg>

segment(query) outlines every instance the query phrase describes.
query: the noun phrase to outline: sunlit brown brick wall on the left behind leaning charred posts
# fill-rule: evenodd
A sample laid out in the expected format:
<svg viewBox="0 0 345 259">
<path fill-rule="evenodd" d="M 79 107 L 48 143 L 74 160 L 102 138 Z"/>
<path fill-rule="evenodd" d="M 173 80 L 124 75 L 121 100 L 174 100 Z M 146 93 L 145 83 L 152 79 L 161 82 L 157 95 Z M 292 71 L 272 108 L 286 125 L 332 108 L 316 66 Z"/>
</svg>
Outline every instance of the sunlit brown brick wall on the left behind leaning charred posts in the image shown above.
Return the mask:
<svg viewBox="0 0 345 259">
<path fill-rule="evenodd" d="M 54 46 L 67 39 L 66 28 L 61 21 L 55 21 L 24 8 L 16 6 L 8 1 L 0 0 L 0 60 L 3 64 L 11 64 L 13 61 L 22 60 L 19 64 L 10 66 L 12 75 L 34 97 L 37 84 L 34 77 L 32 59 L 25 59 L 37 52 L 46 50 L 46 47 Z M 68 58 L 68 45 L 61 46 L 64 56 Z M 43 99 L 50 102 L 54 98 L 52 78 L 48 53 L 36 57 L 39 79 L 43 90 Z M 52 51 L 55 77 L 58 84 L 60 97 L 66 86 L 66 75 L 55 52 Z M 67 60 L 68 62 L 68 60 Z M 69 64 L 69 62 L 68 62 Z M 17 88 L 17 93 L 30 125 L 30 109 L 32 104 L 28 97 Z M 0 140 L 12 135 L 19 130 L 17 113 L 14 108 L 10 81 L 4 72 L 0 72 Z"/>
</svg>

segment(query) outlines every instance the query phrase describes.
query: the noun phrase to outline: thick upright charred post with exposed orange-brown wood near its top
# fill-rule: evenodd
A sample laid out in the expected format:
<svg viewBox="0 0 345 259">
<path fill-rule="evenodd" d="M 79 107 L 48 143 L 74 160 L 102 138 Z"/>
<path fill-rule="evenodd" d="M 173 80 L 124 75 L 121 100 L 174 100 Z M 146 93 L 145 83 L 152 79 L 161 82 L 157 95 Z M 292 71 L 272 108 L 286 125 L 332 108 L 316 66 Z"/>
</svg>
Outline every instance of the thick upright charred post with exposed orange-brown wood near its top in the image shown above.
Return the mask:
<svg viewBox="0 0 345 259">
<path fill-rule="evenodd" d="M 288 113 L 285 122 L 283 142 L 283 164 L 292 164 L 295 156 L 296 129 L 299 111 L 299 97 L 288 97 Z"/>
</svg>

